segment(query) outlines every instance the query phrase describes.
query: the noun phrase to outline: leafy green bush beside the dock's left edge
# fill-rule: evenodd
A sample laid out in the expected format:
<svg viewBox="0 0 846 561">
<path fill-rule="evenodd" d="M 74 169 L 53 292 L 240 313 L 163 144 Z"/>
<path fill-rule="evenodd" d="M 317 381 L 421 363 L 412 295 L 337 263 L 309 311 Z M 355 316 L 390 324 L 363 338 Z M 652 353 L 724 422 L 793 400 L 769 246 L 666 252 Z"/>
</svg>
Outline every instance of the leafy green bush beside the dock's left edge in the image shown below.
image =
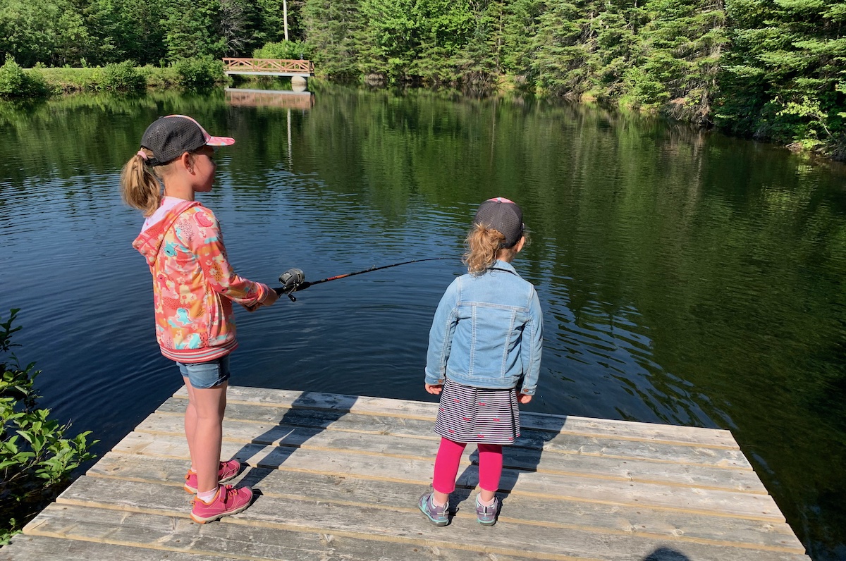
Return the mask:
<svg viewBox="0 0 846 561">
<path fill-rule="evenodd" d="M 91 432 L 66 437 L 69 425 L 38 409 L 33 381 L 41 372 L 35 363 L 20 366 L 10 354 L 18 310 L 0 323 L 0 545 L 52 501 L 69 481 L 70 472 L 94 458 L 88 449 Z"/>
</svg>

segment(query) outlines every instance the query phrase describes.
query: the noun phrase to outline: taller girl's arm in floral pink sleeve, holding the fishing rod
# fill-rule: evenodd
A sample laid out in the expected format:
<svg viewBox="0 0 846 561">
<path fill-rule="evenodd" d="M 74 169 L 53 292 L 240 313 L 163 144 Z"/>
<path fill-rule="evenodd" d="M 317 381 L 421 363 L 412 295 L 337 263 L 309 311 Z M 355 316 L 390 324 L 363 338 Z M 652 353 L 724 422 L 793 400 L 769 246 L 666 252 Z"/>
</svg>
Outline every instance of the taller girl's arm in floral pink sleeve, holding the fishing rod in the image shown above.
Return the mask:
<svg viewBox="0 0 846 561">
<path fill-rule="evenodd" d="M 196 223 L 197 228 L 188 242 L 194 255 L 197 256 L 197 261 L 200 262 L 200 267 L 211 289 L 245 306 L 272 304 L 272 302 L 268 303 L 272 289 L 266 284 L 254 283 L 239 277 L 229 265 L 220 225 L 214 213 L 203 206 L 195 208 L 197 212 L 190 219 Z"/>
</svg>

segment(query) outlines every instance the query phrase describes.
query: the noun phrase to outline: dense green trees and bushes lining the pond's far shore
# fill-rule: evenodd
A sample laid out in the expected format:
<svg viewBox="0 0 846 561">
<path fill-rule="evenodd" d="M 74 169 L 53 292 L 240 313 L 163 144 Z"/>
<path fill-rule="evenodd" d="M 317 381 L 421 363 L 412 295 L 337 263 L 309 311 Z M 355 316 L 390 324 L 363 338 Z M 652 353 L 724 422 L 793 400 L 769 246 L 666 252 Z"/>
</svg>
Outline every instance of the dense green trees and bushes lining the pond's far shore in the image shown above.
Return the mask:
<svg viewBox="0 0 846 561">
<path fill-rule="evenodd" d="M 110 66 L 127 60 L 201 90 L 222 79 L 208 58 L 307 58 L 332 80 L 511 83 L 846 159 L 846 0 L 289 0 L 287 18 L 283 1 L 0 0 L 0 56 L 106 66 L 63 91 L 138 88 Z"/>
</svg>

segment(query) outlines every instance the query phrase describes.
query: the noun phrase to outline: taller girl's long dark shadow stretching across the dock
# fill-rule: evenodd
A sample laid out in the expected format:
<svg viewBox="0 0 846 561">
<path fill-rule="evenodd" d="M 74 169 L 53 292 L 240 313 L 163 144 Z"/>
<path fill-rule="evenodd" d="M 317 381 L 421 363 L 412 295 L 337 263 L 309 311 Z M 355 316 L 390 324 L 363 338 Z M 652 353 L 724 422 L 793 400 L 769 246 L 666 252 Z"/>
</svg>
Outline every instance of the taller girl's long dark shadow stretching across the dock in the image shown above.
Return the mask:
<svg viewBox="0 0 846 561">
<path fill-rule="evenodd" d="M 304 392 L 291 404 L 276 426 L 253 437 L 249 444 L 244 444 L 233 456 L 241 463 L 254 465 L 239 483 L 239 487 L 255 487 L 273 470 L 279 469 L 310 438 L 314 438 L 326 428 L 349 413 L 355 404 L 355 396 L 328 393 Z M 262 458 L 267 447 L 272 446 Z M 253 489 L 261 494 L 258 489 Z"/>
</svg>

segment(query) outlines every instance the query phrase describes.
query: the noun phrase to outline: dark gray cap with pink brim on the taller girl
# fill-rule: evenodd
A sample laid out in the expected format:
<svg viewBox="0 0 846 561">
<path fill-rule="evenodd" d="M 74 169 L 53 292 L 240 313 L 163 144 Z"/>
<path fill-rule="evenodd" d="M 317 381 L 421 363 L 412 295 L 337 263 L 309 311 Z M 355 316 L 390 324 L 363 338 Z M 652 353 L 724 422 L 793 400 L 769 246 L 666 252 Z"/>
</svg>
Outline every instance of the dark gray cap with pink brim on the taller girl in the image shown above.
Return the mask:
<svg viewBox="0 0 846 561">
<path fill-rule="evenodd" d="M 158 118 L 147 127 L 141 137 L 141 146 L 151 150 L 147 160 L 151 166 L 161 166 L 202 146 L 230 146 L 235 140 L 228 136 L 211 136 L 193 118 L 185 115 L 168 115 Z"/>
</svg>

